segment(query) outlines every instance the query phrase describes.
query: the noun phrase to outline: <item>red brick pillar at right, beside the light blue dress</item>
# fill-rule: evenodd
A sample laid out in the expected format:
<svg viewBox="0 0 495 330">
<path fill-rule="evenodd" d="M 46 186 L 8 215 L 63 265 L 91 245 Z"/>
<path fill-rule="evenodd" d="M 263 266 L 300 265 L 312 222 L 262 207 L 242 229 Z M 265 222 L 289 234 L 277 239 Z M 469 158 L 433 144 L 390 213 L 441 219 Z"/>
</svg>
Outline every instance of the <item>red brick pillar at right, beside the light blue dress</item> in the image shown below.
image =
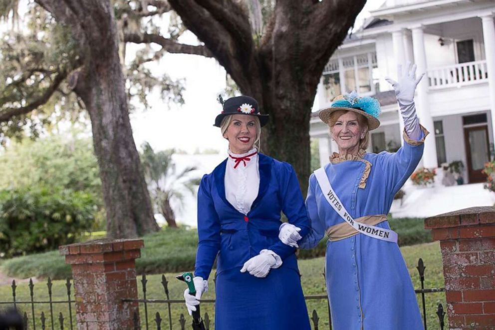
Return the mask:
<svg viewBox="0 0 495 330">
<path fill-rule="evenodd" d="M 440 241 L 450 329 L 495 329 L 495 208 L 425 219 Z"/>
</svg>

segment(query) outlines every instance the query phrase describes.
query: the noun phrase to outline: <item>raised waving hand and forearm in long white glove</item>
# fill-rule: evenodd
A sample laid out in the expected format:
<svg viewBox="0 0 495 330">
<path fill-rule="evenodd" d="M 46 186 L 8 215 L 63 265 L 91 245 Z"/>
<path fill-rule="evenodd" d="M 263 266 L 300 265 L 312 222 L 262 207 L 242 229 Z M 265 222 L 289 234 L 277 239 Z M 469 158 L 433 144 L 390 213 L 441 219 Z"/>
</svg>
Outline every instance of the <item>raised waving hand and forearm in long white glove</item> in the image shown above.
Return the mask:
<svg viewBox="0 0 495 330">
<path fill-rule="evenodd" d="M 390 78 L 385 78 L 385 80 L 394 87 L 407 136 L 413 140 L 419 140 L 421 138 L 421 127 L 419 126 L 419 119 L 414 106 L 414 91 L 425 74 L 421 74 L 418 78 L 415 77 L 415 74 L 416 64 L 411 66 L 411 62 L 407 62 L 404 70 L 402 70 L 402 65 L 398 65 L 397 81 Z"/>
</svg>

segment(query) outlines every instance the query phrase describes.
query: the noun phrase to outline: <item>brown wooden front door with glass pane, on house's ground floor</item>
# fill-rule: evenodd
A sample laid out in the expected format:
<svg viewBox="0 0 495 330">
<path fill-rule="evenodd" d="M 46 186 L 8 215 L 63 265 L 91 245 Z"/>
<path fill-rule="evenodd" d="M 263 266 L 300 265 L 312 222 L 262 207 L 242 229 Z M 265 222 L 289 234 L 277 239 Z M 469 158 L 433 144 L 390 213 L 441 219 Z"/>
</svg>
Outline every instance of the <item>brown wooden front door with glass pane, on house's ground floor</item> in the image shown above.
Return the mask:
<svg viewBox="0 0 495 330">
<path fill-rule="evenodd" d="M 469 183 L 484 182 L 487 178 L 481 171 L 490 161 L 488 126 L 466 127 L 464 143 L 468 160 Z"/>
</svg>

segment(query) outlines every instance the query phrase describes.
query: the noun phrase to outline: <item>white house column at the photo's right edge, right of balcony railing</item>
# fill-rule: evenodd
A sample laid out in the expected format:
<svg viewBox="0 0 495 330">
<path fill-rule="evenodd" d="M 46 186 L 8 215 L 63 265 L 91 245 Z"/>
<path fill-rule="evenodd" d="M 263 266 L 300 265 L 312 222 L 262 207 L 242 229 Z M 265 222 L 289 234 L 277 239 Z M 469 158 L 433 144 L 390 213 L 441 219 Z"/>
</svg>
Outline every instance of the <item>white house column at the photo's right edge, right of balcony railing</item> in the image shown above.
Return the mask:
<svg viewBox="0 0 495 330">
<path fill-rule="evenodd" d="M 494 15 L 487 14 L 481 17 L 483 24 L 483 40 L 487 56 L 488 88 L 490 107 L 492 112 L 492 129 L 495 130 L 495 24 Z M 494 132 L 492 132 L 495 137 Z"/>
</svg>

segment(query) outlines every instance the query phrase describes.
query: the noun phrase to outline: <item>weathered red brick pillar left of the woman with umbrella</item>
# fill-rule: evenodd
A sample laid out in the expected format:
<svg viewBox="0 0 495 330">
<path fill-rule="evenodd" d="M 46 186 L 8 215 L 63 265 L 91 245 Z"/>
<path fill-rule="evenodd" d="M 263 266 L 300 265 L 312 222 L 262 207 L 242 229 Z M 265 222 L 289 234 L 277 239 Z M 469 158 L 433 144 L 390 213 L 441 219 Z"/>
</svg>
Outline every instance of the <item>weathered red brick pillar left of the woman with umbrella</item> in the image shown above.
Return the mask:
<svg viewBox="0 0 495 330">
<path fill-rule="evenodd" d="M 133 329 L 138 298 L 135 260 L 143 240 L 94 240 L 59 247 L 72 267 L 77 329 Z"/>
</svg>

